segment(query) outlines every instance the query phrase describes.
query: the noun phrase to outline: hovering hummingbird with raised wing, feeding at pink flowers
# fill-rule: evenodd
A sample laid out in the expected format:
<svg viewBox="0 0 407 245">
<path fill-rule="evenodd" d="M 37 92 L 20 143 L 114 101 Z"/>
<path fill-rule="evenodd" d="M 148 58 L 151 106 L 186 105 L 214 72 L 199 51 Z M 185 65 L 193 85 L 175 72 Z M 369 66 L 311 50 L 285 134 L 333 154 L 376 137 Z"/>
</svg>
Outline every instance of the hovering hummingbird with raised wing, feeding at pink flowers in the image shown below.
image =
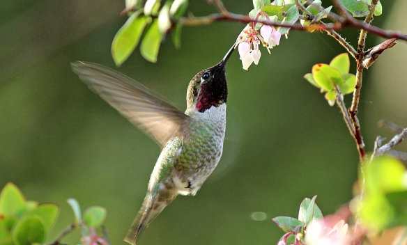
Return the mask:
<svg viewBox="0 0 407 245">
<path fill-rule="evenodd" d="M 222 61 L 191 79 L 185 113 L 124 74 L 95 63 L 71 64 L 91 90 L 162 148 L 125 242 L 136 244 L 148 224 L 178 194 L 195 196 L 220 161 L 226 129 L 226 63 L 235 47 L 233 44 Z"/>
</svg>

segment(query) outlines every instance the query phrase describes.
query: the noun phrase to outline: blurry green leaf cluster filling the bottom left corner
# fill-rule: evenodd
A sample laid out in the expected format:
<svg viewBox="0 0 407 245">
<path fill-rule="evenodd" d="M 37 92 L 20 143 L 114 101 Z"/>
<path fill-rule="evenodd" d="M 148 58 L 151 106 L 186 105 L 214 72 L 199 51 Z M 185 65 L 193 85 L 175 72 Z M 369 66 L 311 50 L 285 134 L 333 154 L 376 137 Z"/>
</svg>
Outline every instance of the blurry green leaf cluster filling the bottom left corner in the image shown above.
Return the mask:
<svg viewBox="0 0 407 245">
<path fill-rule="evenodd" d="M 41 244 L 59 214 L 54 203 L 26 200 L 13 183 L 0 193 L 0 244 Z"/>
</svg>

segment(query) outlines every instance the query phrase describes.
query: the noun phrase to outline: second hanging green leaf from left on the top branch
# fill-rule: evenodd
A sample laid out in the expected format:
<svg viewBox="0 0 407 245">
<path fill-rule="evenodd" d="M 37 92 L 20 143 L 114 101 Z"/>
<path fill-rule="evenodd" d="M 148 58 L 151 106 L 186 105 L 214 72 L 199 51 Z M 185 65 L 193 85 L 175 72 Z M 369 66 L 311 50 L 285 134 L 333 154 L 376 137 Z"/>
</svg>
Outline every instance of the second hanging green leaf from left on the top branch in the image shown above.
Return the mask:
<svg viewBox="0 0 407 245">
<path fill-rule="evenodd" d="M 144 39 L 141 41 L 140 52 L 147 61 L 157 62 L 158 50 L 160 49 L 160 44 L 162 40 L 162 35 L 158 29 L 158 20 L 155 19 L 153 24 L 151 24 L 150 29 L 148 29 Z"/>
</svg>

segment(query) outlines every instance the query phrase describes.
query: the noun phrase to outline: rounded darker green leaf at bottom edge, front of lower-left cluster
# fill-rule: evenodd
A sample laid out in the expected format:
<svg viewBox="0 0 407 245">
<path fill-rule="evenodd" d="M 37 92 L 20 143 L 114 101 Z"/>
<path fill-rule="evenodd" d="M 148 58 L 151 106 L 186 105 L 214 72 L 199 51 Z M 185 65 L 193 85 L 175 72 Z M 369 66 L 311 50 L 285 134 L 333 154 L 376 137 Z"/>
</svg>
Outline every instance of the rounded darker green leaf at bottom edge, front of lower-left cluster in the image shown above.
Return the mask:
<svg viewBox="0 0 407 245">
<path fill-rule="evenodd" d="M 43 243 L 45 238 L 45 226 L 38 215 L 24 217 L 13 230 L 13 239 L 17 245 Z"/>
</svg>

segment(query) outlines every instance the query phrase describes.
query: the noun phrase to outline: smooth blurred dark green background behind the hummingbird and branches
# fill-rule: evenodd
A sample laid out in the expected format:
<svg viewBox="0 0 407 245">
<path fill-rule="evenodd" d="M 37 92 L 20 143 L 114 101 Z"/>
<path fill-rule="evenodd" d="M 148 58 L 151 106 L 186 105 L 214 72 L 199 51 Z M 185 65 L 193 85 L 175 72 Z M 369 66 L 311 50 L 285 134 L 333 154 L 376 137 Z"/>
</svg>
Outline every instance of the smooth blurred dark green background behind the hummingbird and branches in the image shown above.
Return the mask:
<svg viewBox="0 0 407 245">
<path fill-rule="evenodd" d="M 252 9 L 249 0 L 224 4 L 233 13 Z M 72 223 L 66 199 L 77 198 L 82 207 L 106 207 L 111 243 L 125 244 L 160 153 L 70 69 L 78 60 L 114 68 L 110 45 L 127 19 L 119 15 L 123 8 L 123 0 L 1 3 L 0 187 L 14 182 L 29 200 L 57 203 L 61 214 L 52 236 Z M 385 1 L 374 24 L 406 31 L 405 8 L 404 1 Z M 189 11 L 199 16 L 216 9 L 190 1 Z M 181 49 L 168 38 L 158 63 L 148 63 L 136 49 L 116 69 L 183 110 L 190 79 L 220 61 L 243 27 L 234 22 L 185 27 Z M 358 31 L 341 33 L 355 45 Z M 381 40 L 370 35 L 367 47 Z M 329 63 L 344 49 L 324 33 L 291 31 L 272 55 L 261 52 L 259 65 L 248 71 L 237 52 L 229 61 L 228 122 L 219 166 L 197 196 L 171 203 L 140 244 L 275 244 L 283 232 L 271 218 L 297 216 L 303 198 L 318 195 L 323 214 L 352 198 L 355 143 L 337 106 L 328 106 L 302 78 L 312 65 Z M 378 134 L 392 136 L 378 129 L 379 119 L 407 127 L 405 57 L 406 43 L 400 41 L 365 70 L 359 118 L 367 150 Z M 267 219 L 254 221 L 253 212 L 264 212 Z M 79 232 L 63 242 L 79 243 Z"/>
</svg>

